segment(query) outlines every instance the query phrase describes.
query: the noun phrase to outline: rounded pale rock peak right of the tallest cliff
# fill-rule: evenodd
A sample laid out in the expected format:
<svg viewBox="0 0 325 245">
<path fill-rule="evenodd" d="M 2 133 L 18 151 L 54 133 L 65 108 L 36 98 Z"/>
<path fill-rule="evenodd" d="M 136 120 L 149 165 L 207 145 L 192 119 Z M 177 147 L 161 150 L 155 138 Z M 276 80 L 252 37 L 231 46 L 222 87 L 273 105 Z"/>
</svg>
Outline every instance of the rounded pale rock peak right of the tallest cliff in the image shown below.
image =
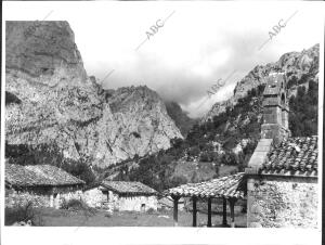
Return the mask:
<svg viewBox="0 0 325 245">
<path fill-rule="evenodd" d="M 170 147 L 170 139 L 182 138 L 161 99 L 146 86 L 120 88 L 104 106 L 98 124 L 101 163 L 155 153 Z"/>
</svg>

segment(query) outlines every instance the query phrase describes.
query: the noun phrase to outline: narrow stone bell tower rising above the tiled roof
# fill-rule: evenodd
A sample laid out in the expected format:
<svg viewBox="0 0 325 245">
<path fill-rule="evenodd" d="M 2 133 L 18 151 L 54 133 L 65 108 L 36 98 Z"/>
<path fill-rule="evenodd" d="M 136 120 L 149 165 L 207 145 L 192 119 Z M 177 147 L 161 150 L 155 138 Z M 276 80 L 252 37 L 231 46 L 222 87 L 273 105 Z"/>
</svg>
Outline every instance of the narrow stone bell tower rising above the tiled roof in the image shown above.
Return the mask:
<svg viewBox="0 0 325 245">
<path fill-rule="evenodd" d="M 270 74 L 263 93 L 263 124 L 261 139 L 273 139 L 280 144 L 290 134 L 289 106 L 286 98 L 286 82 L 282 73 Z"/>
</svg>

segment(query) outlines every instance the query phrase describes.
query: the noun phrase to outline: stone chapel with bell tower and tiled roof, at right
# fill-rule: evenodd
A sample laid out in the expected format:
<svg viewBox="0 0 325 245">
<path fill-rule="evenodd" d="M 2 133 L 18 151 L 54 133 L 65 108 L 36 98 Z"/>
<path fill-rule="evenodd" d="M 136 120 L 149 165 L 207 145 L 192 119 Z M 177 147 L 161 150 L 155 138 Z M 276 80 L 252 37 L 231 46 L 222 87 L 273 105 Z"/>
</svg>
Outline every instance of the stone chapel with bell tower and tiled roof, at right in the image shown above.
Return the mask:
<svg viewBox="0 0 325 245">
<path fill-rule="evenodd" d="M 317 137 L 290 137 L 285 86 L 272 75 L 263 93 L 261 139 L 245 169 L 250 228 L 317 227 Z"/>
</svg>

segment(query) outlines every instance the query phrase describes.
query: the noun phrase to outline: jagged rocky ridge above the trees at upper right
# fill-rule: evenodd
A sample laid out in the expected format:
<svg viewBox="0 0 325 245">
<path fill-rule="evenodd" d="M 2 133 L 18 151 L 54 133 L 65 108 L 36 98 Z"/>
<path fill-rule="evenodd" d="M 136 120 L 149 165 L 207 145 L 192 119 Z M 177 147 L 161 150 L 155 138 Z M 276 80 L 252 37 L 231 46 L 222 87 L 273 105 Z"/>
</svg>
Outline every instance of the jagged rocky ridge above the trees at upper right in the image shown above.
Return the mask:
<svg viewBox="0 0 325 245">
<path fill-rule="evenodd" d="M 284 73 L 285 79 L 288 82 L 288 94 L 295 94 L 297 85 L 295 81 L 304 80 L 308 86 L 308 80 L 318 80 L 318 57 L 320 44 L 315 44 L 308 50 L 301 52 L 289 52 L 283 54 L 275 63 L 266 65 L 258 65 L 248 73 L 240 81 L 237 82 L 234 89 L 234 95 L 226 101 L 218 102 L 212 105 L 210 111 L 203 117 L 202 121 L 208 120 L 222 112 L 225 112 L 227 106 L 234 106 L 239 99 L 247 95 L 247 92 L 259 85 L 265 83 L 265 77 L 270 73 Z M 303 79 L 301 79 L 303 78 Z"/>
</svg>

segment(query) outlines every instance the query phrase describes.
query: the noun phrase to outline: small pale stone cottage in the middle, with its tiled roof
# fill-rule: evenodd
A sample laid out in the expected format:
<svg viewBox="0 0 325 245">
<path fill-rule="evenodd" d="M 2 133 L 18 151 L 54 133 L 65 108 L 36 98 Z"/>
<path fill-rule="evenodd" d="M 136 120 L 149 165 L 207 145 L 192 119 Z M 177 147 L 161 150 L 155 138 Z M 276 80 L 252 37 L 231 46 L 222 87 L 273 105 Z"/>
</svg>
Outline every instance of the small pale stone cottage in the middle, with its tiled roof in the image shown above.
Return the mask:
<svg viewBox="0 0 325 245">
<path fill-rule="evenodd" d="M 104 180 L 83 191 L 84 202 L 90 207 L 110 210 L 157 210 L 157 192 L 141 183 Z"/>
</svg>

